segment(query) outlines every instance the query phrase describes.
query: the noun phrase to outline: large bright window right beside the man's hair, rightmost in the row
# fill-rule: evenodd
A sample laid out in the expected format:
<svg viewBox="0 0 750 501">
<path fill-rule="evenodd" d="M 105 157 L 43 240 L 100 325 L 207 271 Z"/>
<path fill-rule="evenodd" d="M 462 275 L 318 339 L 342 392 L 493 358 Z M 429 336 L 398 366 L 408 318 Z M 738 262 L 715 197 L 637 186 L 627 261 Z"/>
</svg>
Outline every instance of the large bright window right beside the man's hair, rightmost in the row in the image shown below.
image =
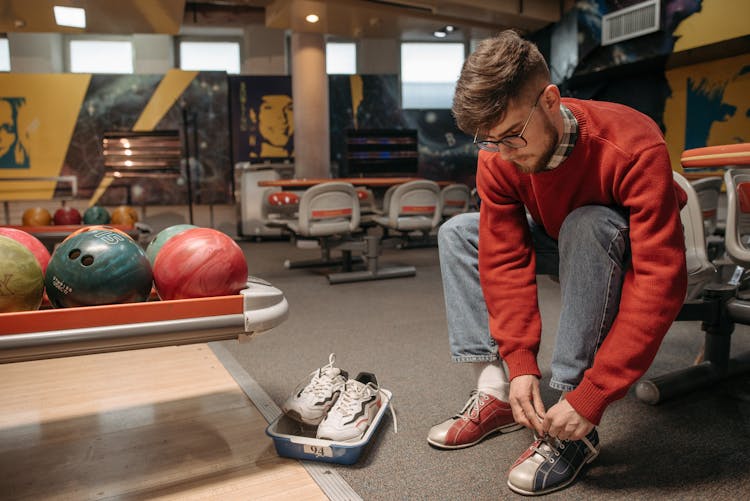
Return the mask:
<svg viewBox="0 0 750 501">
<path fill-rule="evenodd" d="M 450 108 L 463 62 L 462 43 L 401 44 L 403 107 Z"/>
</svg>

